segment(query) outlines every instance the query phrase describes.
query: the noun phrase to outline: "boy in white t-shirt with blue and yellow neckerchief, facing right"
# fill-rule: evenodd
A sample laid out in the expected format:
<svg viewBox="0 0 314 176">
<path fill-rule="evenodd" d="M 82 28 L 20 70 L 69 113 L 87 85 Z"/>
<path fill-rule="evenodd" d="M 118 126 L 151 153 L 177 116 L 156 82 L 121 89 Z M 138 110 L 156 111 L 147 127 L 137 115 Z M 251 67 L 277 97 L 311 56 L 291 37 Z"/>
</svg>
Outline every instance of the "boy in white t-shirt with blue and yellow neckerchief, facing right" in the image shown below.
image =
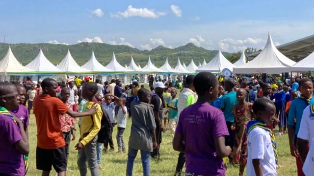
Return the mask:
<svg viewBox="0 0 314 176">
<path fill-rule="evenodd" d="M 253 104 L 256 120 L 247 125 L 247 176 L 277 176 L 277 146 L 274 135 L 265 124 L 272 124 L 276 107 L 272 101 L 260 98 Z"/>
</svg>

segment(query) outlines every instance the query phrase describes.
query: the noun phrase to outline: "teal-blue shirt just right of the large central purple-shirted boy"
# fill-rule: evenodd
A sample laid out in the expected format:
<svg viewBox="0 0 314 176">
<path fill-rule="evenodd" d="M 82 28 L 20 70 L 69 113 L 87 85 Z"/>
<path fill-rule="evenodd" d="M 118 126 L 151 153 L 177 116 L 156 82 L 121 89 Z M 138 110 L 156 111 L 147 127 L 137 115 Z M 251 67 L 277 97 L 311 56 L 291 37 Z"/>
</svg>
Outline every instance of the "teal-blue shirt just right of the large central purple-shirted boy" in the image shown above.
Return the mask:
<svg viewBox="0 0 314 176">
<path fill-rule="evenodd" d="M 236 100 L 235 91 L 227 93 L 224 96 L 222 96 L 220 108 L 224 109 L 224 116 L 225 116 L 226 122 L 235 121 L 233 108 L 236 103 L 238 102 Z"/>
</svg>

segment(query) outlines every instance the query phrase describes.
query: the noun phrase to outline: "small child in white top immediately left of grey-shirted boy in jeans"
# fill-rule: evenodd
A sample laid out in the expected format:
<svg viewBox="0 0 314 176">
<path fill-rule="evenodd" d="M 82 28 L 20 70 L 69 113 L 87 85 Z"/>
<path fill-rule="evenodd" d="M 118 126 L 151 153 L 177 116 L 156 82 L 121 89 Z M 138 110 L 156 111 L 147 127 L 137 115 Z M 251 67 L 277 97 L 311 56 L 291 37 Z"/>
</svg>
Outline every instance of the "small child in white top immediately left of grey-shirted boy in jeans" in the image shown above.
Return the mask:
<svg viewBox="0 0 314 176">
<path fill-rule="evenodd" d="M 126 129 L 127 126 L 127 107 L 125 106 L 126 104 L 126 98 L 120 98 L 118 100 L 118 106 L 120 107 L 118 110 L 118 132 L 117 132 L 117 144 L 118 144 L 118 152 L 117 154 L 125 153 L 126 152 L 126 147 L 124 145 L 124 140 L 123 140 L 123 132 Z"/>
</svg>

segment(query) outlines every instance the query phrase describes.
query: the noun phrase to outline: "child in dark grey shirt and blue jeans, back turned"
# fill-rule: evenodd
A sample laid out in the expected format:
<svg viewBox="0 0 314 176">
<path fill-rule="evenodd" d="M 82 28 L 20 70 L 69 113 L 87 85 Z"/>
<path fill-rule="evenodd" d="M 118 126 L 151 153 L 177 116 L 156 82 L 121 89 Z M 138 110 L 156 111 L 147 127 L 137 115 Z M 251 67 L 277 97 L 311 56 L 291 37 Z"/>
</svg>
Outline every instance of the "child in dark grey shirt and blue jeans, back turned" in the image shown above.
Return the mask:
<svg viewBox="0 0 314 176">
<path fill-rule="evenodd" d="M 133 176 L 133 164 L 138 150 L 141 151 L 143 175 L 150 176 L 150 156 L 157 147 L 156 123 L 153 108 L 148 104 L 151 100 L 149 90 L 138 91 L 139 101 L 131 103 L 132 125 L 129 139 L 127 176 Z"/>
</svg>

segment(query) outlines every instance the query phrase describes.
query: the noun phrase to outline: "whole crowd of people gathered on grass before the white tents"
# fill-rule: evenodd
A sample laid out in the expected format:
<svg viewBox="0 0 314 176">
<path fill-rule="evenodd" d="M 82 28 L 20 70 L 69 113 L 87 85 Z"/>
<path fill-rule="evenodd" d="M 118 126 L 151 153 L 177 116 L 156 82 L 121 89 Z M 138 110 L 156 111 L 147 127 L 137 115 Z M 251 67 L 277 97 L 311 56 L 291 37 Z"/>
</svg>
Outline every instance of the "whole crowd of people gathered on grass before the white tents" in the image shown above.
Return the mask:
<svg viewBox="0 0 314 176">
<path fill-rule="evenodd" d="M 46 78 L 36 86 L 29 77 L 23 84 L 0 82 L 0 176 L 27 173 L 31 110 L 37 126 L 36 168 L 42 176 L 49 176 L 52 167 L 58 176 L 66 175 L 71 141 L 78 141 L 80 176 L 87 176 L 87 168 L 91 176 L 99 176 L 102 153 L 114 151 L 114 127 L 117 154 L 128 154 L 127 176 L 133 175 L 138 151 L 143 175 L 150 176 L 151 158 L 162 161 L 159 149 L 166 130 L 173 149 L 180 152 L 175 176 L 181 176 L 184 164 L 185 176 L 224 176 L 228 164 L 239 164 L 240 176 L 245 167 L 247 176 L 277 176 L 284 162 L 275 135 L 286 133 L 297 175 L 314 173 L 310 78 L 227 79 L 200 72 L 178 76 L 183 88 L 175 86 L 171 75 L 166 80 L 150 75 L 148 80 L 150 90 L 140 88 L 137 75 L 124 88 L 119 79 L 103 84 L 88 76 L 61 83 Z M 128 117 L 131 134 L 125 144 Z M 273 132 L 276 126 L 278 134 Z"/>
</svg>

